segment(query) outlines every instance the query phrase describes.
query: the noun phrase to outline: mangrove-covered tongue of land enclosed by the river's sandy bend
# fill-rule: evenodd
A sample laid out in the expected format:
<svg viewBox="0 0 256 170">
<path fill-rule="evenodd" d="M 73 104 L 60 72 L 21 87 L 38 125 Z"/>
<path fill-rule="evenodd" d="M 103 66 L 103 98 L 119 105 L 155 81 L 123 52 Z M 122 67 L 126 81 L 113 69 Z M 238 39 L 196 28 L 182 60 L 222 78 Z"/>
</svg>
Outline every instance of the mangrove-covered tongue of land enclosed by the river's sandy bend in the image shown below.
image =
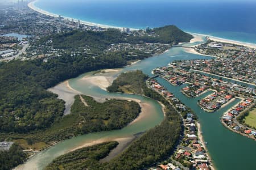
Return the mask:
<svg viewBox="0 0 256 170">
<path fill-rule="evenodd" d="M 42 142 L 45 143 L 44 145 L 49 145 L 52 141 L 61 141 L 79 134 L 121 129 L 141 112 L 141 107 L 135 101 L 110 99 L 98 103 L 92 97 L 84 95 L 81 97 L 88 107 L 81 101 L 79 95 L 75 96 L 71 114 L 59 118 L 50 128 L 27 134 L 1 134 L 0 139 L 26 139 L 30 144 L 27 146 L 29 148 L 33 148 L 38 143 L 42 145 Z"/>
</svg>

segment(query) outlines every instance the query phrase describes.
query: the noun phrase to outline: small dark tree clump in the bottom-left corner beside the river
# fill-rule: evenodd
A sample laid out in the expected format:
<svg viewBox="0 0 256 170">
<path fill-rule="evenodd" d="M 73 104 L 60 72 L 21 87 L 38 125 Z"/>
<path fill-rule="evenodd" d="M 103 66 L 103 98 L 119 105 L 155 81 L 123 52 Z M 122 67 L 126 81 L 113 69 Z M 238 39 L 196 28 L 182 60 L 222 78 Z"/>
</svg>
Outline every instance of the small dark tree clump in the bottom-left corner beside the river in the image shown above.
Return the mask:
<svg viewBox="0 0 256 170">
<path fill-rule="evenodd" d="M 14 143 L 9 151 L 0 151 L 0 169 L 11 169 L 23 163 L 27 155 Z"/>
</svg>

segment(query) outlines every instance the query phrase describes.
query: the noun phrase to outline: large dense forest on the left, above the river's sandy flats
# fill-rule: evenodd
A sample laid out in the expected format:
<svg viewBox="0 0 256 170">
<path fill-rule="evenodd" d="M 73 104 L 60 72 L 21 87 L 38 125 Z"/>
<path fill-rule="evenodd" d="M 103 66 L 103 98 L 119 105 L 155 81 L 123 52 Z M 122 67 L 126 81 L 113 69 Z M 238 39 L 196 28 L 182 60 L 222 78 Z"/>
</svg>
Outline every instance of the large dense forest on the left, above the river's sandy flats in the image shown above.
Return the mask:
<svg viewBox="0 0 256 170">
<path fill-rule="evenodd" d="M 64 101 L 46 91 L 57 83 L 87 71 L 122 67 L 122 56 L 63 56 L 47 63 L 38 60 L 0 64 L 0 130 L 26 133 L 46 129 L 63 116 Z"/>
</svg>

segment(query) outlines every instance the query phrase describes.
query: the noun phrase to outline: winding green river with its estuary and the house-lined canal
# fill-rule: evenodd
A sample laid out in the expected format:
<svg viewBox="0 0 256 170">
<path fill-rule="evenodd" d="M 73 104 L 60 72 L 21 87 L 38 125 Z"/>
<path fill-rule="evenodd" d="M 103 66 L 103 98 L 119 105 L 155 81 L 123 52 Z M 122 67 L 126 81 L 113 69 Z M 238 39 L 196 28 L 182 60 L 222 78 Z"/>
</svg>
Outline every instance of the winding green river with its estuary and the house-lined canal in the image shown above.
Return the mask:
<svg viewBox="0 0 256 170">
<path fill-rule="evenodd" d="M 199 42 L 184 45 L 195 45 L 198 43 Z M 207 58 L 210 57 L 190 54 L 185 52 L 183 48 L 172 48 L 164 54 L 143 59 L 142 61 L 137 62 L 132 66 L 125 67 L 122 71 L 139 69 L 148 75 L 152 75 L 151 71 L 155 67 L 165 66 L 177 59 L 187 60 Z M 103 99 L 105 97 L 126 97 L 139 99 L 141 100 L 141 103 L 147 103 L 151 106 L 147 116 L 137 122 L 134 122 L 134 124 L 126 126 L 121 130 L 81 135 L 79 137 L 57 143 L 57 145 L 52 146 L 48 150 L 44 150 L 33 156 L 22 167 L 20 167 L 20 169 L 43 169 L 54 158 L 65 154 L 68 151 L 71 151 L 77 146 L 81 146 L 85 143 L 90 143 L 93 141 L 131 137 L 134 134 L 151 129 L 163 121 L 164 116 L 162 107 L 156 101 L 139 95 L 109 94 L 108 92 L 101 90 L 101 88 L 83 80 L 82 78 L 85 75 L 86 74 L 82 74 L 75 79 L 69 80 L 69 85 L 73 89 L 80 91 L 82 94 L 101 97 Z M 117 74 L 114 76 L 117 76 Z M 256 167 L 256 162 L 254 161 L 256 154 L 255 141 L 243 137 L 242 135 L 233 133 L 232 131 L 222 126 L 220 122 L 221 115 L 234 104 L 236 104 L 238 99 L 217 112 L 207 113 L 203 112 L 203 110 L 200 109 L 196 102 L 198 99 L 207 96 L 209 92 L 196 99 L 189 99 L 180 92 L 180 89 L 183 86 L 171 86 L 162 78 L 158 78 L 158 81 L 168 90 L 174 93 L 178 99 L 180 99 L 185 105 L 190 107 L 197 114 L 201 122 L 201 130 L 203 131 L 204 140 L 208 142 L 207 147 L 209 154 L 212 157 L 214 165 L 217 167 L 217 169 L 254 169 Z"/>
</svg>

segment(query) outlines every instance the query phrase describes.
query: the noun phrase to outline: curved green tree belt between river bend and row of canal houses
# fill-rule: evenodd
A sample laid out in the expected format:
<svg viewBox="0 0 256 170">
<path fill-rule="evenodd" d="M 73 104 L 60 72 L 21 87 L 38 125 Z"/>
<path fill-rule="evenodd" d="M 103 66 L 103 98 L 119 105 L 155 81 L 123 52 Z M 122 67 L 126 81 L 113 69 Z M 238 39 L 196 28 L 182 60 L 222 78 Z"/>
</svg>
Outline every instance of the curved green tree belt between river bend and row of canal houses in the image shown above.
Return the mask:
<svg viewBox="0 0 256 170">
<path fill-rule="evenodd" d="M 159 126 L 148 130 L 120 156 L 111 160 L 107 169 L 142 169 L 170 156 L 181 132 L 181 119 L 170 106 Z"/>
</svg>

